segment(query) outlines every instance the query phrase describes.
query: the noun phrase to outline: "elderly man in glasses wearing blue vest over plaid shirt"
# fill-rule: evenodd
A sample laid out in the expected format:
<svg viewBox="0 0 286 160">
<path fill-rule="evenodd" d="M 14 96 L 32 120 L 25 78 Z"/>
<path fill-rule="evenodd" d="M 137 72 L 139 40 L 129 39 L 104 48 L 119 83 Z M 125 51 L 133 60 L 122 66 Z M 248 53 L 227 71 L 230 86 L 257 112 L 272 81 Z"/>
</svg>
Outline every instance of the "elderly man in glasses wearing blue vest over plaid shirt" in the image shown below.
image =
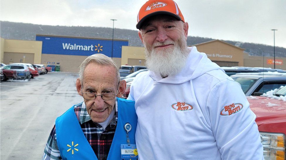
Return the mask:
<svg viewBox="0 0 286 160">
<path fill-rule="evenodd" d="M 134 102 L 117 98 L 125 87 L 111 58 L 103 54 L 86 58 L 76 80 L 84 102 L 56 119 L 43 159 L 137 158 Z M 121 155 L 120 148 L 127 153 Z"/>
</svg>

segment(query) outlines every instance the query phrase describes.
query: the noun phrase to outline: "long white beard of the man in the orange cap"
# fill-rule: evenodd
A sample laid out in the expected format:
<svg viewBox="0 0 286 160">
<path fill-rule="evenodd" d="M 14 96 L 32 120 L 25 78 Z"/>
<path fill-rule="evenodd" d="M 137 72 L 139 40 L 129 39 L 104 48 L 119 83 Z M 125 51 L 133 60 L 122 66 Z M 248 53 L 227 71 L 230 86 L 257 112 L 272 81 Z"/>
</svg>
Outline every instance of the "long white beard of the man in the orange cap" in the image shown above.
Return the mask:
<svg viewBox="0 0 286 160">
<path fill-rule="evenodd" d="M 153 46 L 167 44 L 174 44 L 174 42 L 158 42 L 153 44 Z M 178 41 L 178 43 L 174 44 L 174 48 L 167 48 L 155 51 L 154 47 L 150 49 L 146 47 L 145 43 L 144 46 L 144 53 L 146 55 L 145 65 L 149 68 L 150 71 L 159 73 L 163 78 L 168 76 L 175 76 L 180 73 L 182 68 L 186 64 L 190 52 L 188 50 L 187 43 L 186 41 L 184 41 L 183 37 Z"/>
</svg>

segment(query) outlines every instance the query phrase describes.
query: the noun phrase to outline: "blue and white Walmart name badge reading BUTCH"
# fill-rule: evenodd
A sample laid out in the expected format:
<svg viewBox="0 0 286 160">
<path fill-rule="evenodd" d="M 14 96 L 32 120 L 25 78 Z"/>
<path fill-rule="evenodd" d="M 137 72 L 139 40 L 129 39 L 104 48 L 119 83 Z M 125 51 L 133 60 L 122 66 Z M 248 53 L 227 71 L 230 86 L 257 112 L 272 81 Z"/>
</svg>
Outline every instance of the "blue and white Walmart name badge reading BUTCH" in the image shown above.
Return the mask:
<svg viewBox="0 0 286 160">
<path fill-rule="evenodd" d="M 138 152 L 135 144 L 121 144 L 121 159 L 138 159 Z"/>
</svg>

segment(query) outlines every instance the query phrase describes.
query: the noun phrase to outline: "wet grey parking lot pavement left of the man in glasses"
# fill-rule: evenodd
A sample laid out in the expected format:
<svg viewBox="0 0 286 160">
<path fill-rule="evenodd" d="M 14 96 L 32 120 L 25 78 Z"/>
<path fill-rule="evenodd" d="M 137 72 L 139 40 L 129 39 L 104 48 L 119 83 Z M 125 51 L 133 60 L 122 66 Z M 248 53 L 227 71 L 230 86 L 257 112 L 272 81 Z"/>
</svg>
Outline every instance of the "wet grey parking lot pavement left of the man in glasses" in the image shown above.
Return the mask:
<svg viewBox="0 0 286 160">
<path fill-rule="evenodd" d="M 56 117 L 83 98 L 76 73 L 49 72 L 1 82 L 1 160 L 41 159 Z"/>
</svg>

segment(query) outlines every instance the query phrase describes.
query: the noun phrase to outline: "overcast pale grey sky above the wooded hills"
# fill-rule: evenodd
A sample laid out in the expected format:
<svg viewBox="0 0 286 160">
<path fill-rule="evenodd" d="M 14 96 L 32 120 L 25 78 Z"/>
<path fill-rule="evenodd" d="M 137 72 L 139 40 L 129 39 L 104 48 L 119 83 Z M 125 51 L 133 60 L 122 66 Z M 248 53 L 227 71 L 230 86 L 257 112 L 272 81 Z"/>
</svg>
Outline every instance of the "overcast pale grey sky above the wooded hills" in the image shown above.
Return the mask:
<svg viewBox="0 0 286 160">
<path fill-rule="evenodd" d="M 160 1 L 160 0 L 158 0 Z M 1 21 L 136 29 L 145 0 L 1 0 Z M 286 48 L 286 0 L 176 0 L 189 36 Z"/>
</svg>

